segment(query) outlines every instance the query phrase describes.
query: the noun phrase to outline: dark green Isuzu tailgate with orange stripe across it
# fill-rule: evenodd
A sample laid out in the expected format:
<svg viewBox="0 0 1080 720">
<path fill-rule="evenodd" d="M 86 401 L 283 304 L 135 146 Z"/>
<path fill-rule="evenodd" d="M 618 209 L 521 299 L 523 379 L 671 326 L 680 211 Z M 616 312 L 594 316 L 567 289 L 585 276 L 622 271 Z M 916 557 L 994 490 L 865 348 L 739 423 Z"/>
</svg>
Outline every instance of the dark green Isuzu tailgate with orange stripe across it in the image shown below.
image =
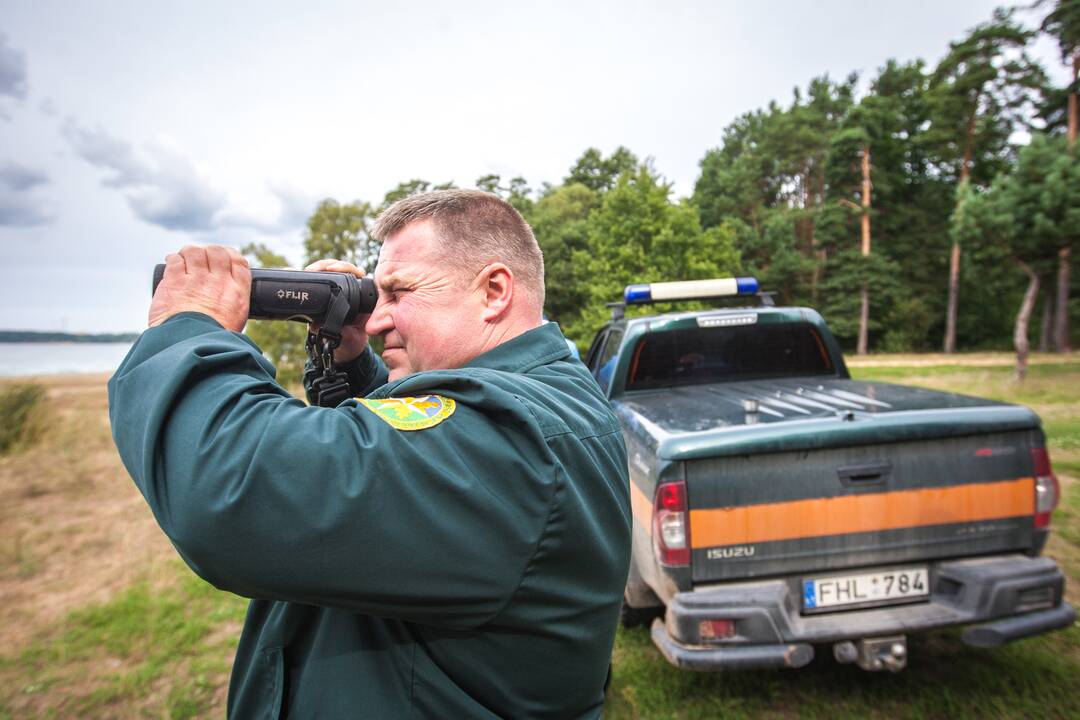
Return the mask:
<svg viewBox="0 0 1080 720">
<path fill-rule="evenodd" d="M 1027 551 L 1035 432 L 687 459 L 693 582 Z"/>
</svg>

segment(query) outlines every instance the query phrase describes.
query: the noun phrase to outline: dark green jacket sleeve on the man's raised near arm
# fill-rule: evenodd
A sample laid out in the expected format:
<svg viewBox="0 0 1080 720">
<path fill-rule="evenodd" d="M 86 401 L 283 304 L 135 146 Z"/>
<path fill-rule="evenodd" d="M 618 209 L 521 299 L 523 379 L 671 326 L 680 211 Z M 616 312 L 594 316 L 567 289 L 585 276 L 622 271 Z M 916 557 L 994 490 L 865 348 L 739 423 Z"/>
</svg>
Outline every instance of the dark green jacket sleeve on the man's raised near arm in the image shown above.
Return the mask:
<svg viewBox="0 0 1080 720">
<path fill-rule="evenodd" d="M 521 403 L 462 378 L 453 415 L 408 432 L 355 400 L 308 407 L 271 372 L 247 338 L 184 314 L 109 381 L 120 456 L 188 565 L 247 597 L 450 627 L 497 615 L 559 478 Z"/>
</svg>

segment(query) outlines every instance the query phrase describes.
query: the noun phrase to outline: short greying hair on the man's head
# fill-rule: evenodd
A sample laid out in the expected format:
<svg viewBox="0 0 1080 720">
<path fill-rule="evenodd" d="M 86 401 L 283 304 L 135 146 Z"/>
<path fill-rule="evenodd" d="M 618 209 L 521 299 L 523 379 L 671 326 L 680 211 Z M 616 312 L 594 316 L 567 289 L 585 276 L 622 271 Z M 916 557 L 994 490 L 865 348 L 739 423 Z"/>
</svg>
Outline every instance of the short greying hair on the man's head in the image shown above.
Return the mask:
<svg viewBox="0 0 1080 720">
<path fill-rule="evenodd" d="M 388 207 L 375 221 L 379 242 L 421 220 L 431 220 L 448 263 L 478 272 L 502 262 L 516 285 L 543 307 L 543 254 L 532 229 L 513 205 L 482 190 L 435 190 L 410 195 Z"/>
</svg>

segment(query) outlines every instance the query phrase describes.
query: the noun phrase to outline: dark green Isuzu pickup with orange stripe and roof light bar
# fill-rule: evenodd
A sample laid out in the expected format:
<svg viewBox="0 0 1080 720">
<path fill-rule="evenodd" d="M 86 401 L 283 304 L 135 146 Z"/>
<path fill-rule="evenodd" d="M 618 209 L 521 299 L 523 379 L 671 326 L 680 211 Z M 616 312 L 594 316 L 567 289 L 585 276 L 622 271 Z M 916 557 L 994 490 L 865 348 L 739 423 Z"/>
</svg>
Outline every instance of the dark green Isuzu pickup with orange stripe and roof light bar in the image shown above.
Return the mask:
<svg viewBox="0 0 1080 720">
<path fill-rule="evenodd" d="M 756 307 L 625 317 L 626 304 Z M 651 293 L 651 296 L 650 296 Z M 900 670 L 906 636 L 997 647 L 1070 625 L 1040 557 L 1057 502 L 1029 409 L 852 380 L 822 317 L 753 279 L 630 286 L 585 364 L 630 460 L 623 624 L 674 665 Z"/>
</svg>

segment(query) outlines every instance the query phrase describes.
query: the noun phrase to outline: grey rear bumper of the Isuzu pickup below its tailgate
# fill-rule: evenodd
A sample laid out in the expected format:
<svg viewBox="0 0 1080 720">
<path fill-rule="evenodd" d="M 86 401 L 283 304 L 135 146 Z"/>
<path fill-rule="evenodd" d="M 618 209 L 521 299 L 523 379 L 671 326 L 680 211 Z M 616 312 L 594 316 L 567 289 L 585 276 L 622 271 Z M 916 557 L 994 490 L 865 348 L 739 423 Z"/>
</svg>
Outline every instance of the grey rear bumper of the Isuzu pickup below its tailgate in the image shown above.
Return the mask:
<svg viewBox="0 0 1080 720">
<path fill-rule="evenodd" d="M 903 606 L 804 615 L 796 579 L 726 583 L 678 593 L 652 641 L 673 665 L 697 670 L 801 667 L 813 644 L 972 625 L 966 643 L 993 648 L 1067 627 L 1065 578 L 1050 558 L 1008 555 L 931 563 L 931 595 Z M 699 636 L 703 620 L 735 621 L 724 641 Z"/>
</svg>

